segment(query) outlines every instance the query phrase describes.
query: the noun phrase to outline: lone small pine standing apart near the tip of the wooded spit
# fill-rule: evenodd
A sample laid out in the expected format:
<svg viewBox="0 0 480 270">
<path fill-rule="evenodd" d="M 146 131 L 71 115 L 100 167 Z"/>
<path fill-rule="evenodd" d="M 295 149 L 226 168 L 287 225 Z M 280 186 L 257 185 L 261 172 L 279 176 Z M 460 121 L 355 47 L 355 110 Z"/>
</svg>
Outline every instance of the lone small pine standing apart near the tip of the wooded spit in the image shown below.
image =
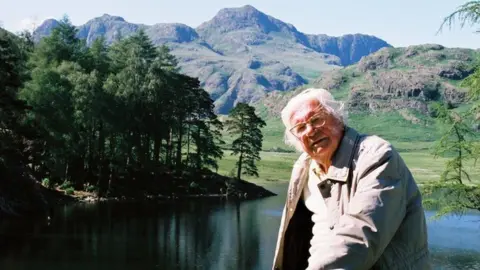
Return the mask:
<svg viewBox="0 0 480 270">
<path fill-rule="evenodd" d="M 243 174 L 258 177 L 255 164 L 260 160 L 263 134 L 260 128 L 266 123 L 255 114 L 255 108 L 246 104 L 238 103 L 229 113 L 229 119 L 225 122 L 230 135 L 237 137 L 232 143 L 232 155 L 238 155 L 236 163 L 237 179 Z"/>
</svg>

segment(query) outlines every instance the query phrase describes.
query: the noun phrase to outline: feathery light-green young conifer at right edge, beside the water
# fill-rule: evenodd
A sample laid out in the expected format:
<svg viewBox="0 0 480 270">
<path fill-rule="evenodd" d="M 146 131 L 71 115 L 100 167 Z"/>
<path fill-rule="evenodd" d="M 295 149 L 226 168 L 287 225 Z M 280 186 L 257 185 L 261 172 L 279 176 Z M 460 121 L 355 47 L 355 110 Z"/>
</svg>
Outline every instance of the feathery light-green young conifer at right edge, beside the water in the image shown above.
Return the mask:
<svg viewBox="0 0 480 270">
<path fill-rule="evenodd" d="M 448 159 L 439 181 L 423 185 L 424 204 L 437 210 L 437 218 L 468 210 L 480 211 L 480 187 L 472 182 L 466 166 L 468 161 L 476 163 L 480 157 L 478 134 L 470 125 L 470 113 L 460 114 L 449 109 L 447 104 L 435 104 L 432 109 L 444 129 L 435 145 L 434 155 Z"/>
</svg>

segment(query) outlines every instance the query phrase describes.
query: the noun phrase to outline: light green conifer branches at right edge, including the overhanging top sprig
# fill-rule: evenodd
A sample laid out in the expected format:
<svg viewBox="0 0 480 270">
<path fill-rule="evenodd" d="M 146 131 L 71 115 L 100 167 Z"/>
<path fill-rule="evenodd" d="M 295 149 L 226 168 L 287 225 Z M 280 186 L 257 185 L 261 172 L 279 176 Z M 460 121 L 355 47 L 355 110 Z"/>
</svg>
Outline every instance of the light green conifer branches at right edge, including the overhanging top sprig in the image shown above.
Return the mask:
<svg viewBox="0 0 480 270">
<path fill-rule="evenodd" d="M 480 22 L 480 1 L 469 1 L 459 6 L 453 13 L 445 17 L 439 32 L 445 26 L 450 28 L 459 19 L 461 27 Z M 478 31 L 477 31 L 478 32 Z M 480 143 L 475 126 L 480 122 L 480 64 L 461 83 L 468 88 L 470 109 L 458 113 L 446 105 L 434 106 L 434 115 L 445 128 L 442 137 L 434 150 L 436 157 L 449 158 L 440 181 L 425 184 L 423 192 L 425 205 L 437 209 L 436 217 L 448 213 L 462 213 L 467 210 L 480 211 L 480 185 L 470 180 L 465 164 L 474 160 L 474 166 L 480 157 Z M 468 180 L 468 182 L 467 182 Z"/>
</svg>

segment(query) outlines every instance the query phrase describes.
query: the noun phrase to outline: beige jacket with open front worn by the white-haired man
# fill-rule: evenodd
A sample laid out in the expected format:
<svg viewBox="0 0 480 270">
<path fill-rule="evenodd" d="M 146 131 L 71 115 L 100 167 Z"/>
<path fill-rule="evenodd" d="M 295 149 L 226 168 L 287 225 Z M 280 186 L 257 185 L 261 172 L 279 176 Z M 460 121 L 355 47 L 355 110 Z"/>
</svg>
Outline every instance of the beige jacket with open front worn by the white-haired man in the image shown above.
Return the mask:
<svg viewBox="0 0 480 270">
<path fill-rule="evenodd" d="M 330 227 L 325 229 L 328 236 L 314 243 L 315 247 L 307 241 L 311 227 L 305 228 L 308 223 L 299 221 L 309 216 L 295 214 L 301 212 L 300 197 L 309 165 L 306 154 L 294 164 L 273 269 L 305 269 L 307 264 L 315 265 L 308 269 L 431 269 L 420 192 L 404 161 L 387 141 L 346 127 L 327 180 L 318 185 Z M 301 225 L 287 231 L 294 220 Z M 293 239 L 288 246 L 286 238 Z M 316 251 L 313 256 L 309 249 Z"/>
</svg>

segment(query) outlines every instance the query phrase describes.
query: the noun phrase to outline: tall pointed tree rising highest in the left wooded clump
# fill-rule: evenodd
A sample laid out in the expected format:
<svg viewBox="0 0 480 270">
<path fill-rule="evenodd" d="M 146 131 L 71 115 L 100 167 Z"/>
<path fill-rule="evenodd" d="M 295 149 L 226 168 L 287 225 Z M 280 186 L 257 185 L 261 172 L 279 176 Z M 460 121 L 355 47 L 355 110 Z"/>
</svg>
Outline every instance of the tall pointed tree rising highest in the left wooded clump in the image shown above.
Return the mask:
<svg viewBox="0 0 480 270">
<path fill-rule="evenodd" d="M 88 106 L 85 98 L 91 87 L 85 78 L 88 48 L 76 33 L 68 17 L 64 17 L 52 34 L 40 42 L 29 62 L 33 68 L 31 80 L 20 96 L 32 107 L 29 123 L 38 127 L 45 140 L 40 160 L 33 163 L 46 168 L 54 182 L 68 181 L 82 188 L 83 179 L 79 176 L 84 171 L 87 131 L 80 118 Z M 78 181 L 74 181 L 74 176 Z"/>
</svg>

